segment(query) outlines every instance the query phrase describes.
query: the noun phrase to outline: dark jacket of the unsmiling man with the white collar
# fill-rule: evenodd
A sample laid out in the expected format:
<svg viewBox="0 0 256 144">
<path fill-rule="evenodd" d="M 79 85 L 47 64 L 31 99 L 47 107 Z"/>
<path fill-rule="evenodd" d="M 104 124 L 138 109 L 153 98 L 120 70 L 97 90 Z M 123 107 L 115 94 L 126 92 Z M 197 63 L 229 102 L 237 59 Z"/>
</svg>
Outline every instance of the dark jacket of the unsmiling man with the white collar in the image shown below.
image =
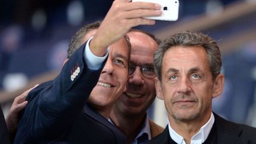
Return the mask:
<svg viewBox="0 0 256 144">
<path fill-rule="evenodd" d="M 217 144 L 254 144 L 256 143 L 256 128 L 244 124 L 227 121 L 214 114 L 217 128 Z M 171 143 L 168 126 L 159 136 L 151 139 L 149 143 Z"/>
</svg>

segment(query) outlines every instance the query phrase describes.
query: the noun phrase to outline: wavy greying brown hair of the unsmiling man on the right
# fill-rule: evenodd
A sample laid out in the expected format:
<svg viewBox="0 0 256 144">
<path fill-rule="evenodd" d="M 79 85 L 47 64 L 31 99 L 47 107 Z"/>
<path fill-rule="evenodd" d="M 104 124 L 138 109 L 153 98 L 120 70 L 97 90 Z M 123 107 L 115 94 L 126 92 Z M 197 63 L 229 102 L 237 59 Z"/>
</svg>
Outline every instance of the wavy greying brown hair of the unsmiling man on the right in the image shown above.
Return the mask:
<svg viewBox="0 0 256 144">
<path fill-rule="evenodd" d="M 153 63 L 159 81 L 161 81 L 162 78 L 162 60 L 165 52 L 175 46 L 202 46 L 207 52 L 212 78 L 215 79 L 216 76 L 219 75 L 222 66 L 222 59 L 216 41 L 202 33 L 183 31 L 167 37 L 167 39 L 162 41 L 158 50 L 155 52 Z"/>
</svg>

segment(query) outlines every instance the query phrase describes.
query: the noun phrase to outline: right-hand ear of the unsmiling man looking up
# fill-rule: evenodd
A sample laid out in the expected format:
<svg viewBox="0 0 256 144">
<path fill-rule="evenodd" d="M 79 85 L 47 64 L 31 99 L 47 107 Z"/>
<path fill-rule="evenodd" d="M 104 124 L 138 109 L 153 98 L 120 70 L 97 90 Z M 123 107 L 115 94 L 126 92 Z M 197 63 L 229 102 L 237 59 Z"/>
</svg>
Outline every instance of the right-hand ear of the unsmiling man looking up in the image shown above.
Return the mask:
<svg viewBox="0 0 256 144">
<path fill-rule="evenodd" d="M 224 87 L 224 75 L 220 73 L 213 81 L 213 97 L 219 96 Z"/>
</svg>

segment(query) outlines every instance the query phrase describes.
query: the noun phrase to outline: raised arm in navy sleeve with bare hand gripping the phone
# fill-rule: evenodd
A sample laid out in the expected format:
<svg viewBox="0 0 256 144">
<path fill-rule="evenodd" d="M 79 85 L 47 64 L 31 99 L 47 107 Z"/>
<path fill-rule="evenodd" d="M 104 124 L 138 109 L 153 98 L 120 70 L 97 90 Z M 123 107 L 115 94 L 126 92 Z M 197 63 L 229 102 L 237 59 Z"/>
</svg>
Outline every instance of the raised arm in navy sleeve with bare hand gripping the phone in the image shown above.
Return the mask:
<svg viewBox="0 0 256 144">
<path fill-rule="evenodd" d="M 123 38 L 130 28 L 142 24 L 154 24 L 145 16 L 160 15 L 159 5 L 146 2 L 116 0 L 88 43 L 95 56 L 104 56 L 110 44 Z M 97 84 L 101 69 L 87 67 L 82 46 L 63 66 L 53 81 L 41 84 L 28 94 L 28 105 L 21 118 L 15 142 L 27 139 L 49 139 L 59 136 L 75 119 L 86 103 L 92 88 Z"/>
</svg>

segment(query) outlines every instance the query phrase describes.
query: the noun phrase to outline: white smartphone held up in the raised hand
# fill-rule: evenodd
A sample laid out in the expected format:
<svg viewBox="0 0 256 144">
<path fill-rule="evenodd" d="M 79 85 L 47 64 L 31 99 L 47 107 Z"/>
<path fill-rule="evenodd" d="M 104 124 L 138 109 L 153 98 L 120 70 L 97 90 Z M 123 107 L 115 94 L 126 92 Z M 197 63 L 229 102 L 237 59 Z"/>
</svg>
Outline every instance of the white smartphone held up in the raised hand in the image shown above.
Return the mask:
<svg viewBox="0 0 256 144">
<path fill-rule="evenodd" d="M 158 17 L 145 17 L 152 20 L 177 21 L 179 1 L 178 0 L 132 0 L 132 2 L 153 2 L 161 5 L 162 15 Z"/>
</svg>

